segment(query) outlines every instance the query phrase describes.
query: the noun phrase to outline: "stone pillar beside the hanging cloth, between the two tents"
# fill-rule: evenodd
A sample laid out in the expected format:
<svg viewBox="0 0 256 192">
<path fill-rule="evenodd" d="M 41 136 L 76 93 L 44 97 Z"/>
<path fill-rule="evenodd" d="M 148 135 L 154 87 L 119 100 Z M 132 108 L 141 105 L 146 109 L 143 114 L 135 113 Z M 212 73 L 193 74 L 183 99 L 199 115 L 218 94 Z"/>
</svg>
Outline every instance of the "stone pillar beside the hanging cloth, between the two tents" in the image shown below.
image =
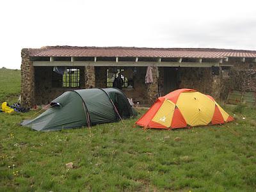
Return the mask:
<svg viewBox="0 0 256 192">
<path fill-rule="evenodd" d="M 157 79 L 157 67 L 152 67 L 152 77 L 153 82 L 147 83 L 147 93 L 148 93 L 148 104 L 152 105 L 158 98 L 158 79 Z"/>
</svg>

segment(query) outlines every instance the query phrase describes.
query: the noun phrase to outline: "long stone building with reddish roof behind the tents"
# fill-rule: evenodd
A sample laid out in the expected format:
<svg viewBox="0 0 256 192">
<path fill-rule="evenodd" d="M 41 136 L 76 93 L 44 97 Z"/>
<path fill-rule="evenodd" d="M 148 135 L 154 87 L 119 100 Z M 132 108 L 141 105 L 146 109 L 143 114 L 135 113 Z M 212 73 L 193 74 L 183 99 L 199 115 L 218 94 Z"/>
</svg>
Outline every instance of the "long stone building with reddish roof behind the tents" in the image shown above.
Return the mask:
<svg viewBox="0 0 256 192">
<path fill-rule="evenodd" d="M 150 105 L 177 88 L 195 88 L 215 98 L 230 90 L 256 92 L 256 51 L 136 47 L 42 47 L 22 49 L 24 106 L 48 104 L 67 90 L 113 86 Z M 147 68 L 152 83 L 145 83 Z"/>
</svg>

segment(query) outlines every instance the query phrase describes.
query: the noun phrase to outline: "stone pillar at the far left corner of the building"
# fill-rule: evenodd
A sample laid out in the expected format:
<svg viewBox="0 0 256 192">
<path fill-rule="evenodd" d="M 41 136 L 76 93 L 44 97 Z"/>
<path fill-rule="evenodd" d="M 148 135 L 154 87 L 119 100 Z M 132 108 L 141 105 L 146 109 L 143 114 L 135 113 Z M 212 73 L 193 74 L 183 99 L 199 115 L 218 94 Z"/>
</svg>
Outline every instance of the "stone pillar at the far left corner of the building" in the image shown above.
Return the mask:
<svg viewBox="0 0 256 192">
<path fill-rule="evenodd" d="M 22 49 L 21 58 L 21 103 L 32 107 L 35 105 L 35 70 L 29 59 L 29 49 Z"/>
</svg>

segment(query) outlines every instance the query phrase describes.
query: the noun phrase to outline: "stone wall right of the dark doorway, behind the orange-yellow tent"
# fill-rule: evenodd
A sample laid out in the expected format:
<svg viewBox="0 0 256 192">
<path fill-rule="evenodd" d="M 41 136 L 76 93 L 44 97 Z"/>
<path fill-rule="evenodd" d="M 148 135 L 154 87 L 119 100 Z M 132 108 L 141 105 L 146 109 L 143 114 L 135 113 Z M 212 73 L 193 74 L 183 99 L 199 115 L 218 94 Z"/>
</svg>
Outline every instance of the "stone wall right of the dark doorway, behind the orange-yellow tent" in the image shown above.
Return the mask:
<svg viewBox="0 0 256 192">
<path fill-rule="evenodd" d="M 179 88 L 194 88 L 214 99 L 227 99 L 232 90 L 256 91 L 256 64 L 231 60 L 226 64 L 234 67 L 220 67 L 220 74 L 212 74 L 212 68 L 179 68 Z"/>
</svg>

